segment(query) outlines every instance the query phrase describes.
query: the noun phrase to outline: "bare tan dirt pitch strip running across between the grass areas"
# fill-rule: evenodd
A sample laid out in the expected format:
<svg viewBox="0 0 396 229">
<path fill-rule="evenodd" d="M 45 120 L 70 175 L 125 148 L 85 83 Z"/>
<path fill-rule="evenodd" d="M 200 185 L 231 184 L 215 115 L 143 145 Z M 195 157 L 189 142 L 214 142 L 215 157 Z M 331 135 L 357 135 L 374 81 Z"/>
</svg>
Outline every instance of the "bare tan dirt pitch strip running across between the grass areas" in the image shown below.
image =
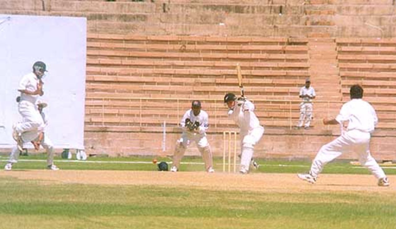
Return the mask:
<svg viewBox="0 0 396 229">
<path fill-rule="evenodd" d="M 362 191 L 396 193 L 396 175 L 388 176 L 389 187 L 377 186 L 372 175 L 321 174 L 316 184 L 308 184 L 296 174 L 251 173 L 248 175 L 205 172 L 25 170 L 0 171 L 1 177 L 38 180 L 57 184 L 155 185 L 208 190 L 255 192 Z"/>
</svg>

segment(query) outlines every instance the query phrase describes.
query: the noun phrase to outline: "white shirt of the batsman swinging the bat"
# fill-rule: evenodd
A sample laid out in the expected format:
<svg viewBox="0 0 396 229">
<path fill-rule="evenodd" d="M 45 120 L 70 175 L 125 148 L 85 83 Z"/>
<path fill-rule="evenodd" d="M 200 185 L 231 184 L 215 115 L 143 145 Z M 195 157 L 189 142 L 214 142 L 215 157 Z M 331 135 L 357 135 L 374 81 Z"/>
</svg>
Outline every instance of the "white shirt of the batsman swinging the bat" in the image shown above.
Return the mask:
<svg viewBox="0 0 396 229">
<path fill-rule="evenodd" d="M 244 109 L 246 111 L 244 111 Z M 228 116 L 239 126 L 241 134 L 249 133 L 250 130 L 260 126 L 260 121 L 253 112 L 254 109 L 254 104 L 246 100 L 244 103 L 235 105 L 232 111 L 228 111 Z"/>
</svg>

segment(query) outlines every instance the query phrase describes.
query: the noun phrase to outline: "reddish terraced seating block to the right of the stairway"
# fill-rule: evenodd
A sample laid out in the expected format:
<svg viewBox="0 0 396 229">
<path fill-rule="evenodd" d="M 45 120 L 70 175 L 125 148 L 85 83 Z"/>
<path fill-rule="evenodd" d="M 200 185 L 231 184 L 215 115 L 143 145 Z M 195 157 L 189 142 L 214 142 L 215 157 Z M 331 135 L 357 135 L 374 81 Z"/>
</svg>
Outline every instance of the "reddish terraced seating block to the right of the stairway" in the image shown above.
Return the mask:
<svg viewBox="0 0 396 229">
<path fill-rule="evenodd" d="M 343 100 L 349 100 L 349 88 L 360 84 L 364 99 L 377 110 L 378 128 L 396 128 L 396 39 L 339 38 L 337 59 Z"/>
</svg>

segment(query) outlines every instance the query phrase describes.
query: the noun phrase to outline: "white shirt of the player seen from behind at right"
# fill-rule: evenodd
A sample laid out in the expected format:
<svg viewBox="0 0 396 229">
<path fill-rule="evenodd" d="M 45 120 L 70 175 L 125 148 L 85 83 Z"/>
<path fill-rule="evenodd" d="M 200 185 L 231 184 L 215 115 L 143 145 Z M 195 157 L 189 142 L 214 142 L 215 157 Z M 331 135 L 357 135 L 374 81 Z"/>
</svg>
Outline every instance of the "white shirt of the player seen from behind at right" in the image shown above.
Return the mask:
<svg viewBox="0 0 396 229">
<path fill-rule="evenodd" d="M 349 121 L 347 130 L 373 132 L 378 123 L 374 108 L 363 99 L 352 99 L 345 103 L 335 118 L 337 122 Z"/>
</svg>

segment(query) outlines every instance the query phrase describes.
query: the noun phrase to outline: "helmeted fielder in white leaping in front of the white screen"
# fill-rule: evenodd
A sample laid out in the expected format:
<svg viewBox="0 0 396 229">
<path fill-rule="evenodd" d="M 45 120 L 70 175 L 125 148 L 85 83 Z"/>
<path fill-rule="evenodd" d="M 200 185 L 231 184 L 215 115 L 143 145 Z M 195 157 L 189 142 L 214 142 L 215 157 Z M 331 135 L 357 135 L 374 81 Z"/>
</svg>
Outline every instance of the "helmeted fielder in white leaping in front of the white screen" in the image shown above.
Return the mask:
<svg viewBox="0 0 396 229">
<path fill-rule="evenodd" d="M 23 148 L 22 133 L 35 131 L 38 135 L 44 129 L 44 122 L 36 102 L 38 97 L 44 94 L 42 77 L 46 71 L 46 64 L 37 61 L 33 64 L 33 71 L 24 75 L 19 82 L 18 91 L 21 92 L 21 96 L 18 111 L 22 116 L 22 122 L 13 125 L 12 136 L 17 141 L 18 149 L 21 151 Z"/>
</svg>

